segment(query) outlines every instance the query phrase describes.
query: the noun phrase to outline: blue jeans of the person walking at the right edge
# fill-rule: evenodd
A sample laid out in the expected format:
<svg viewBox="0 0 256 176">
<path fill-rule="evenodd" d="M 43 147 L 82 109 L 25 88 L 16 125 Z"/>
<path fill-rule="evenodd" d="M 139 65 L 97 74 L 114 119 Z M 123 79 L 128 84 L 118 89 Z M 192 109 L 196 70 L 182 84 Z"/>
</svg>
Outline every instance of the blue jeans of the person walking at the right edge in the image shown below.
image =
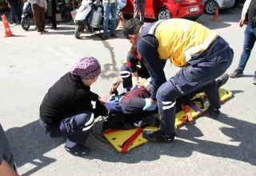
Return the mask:
<svg viewBox="0 0 256 176">
<path fill-rule="evenodd" d="M 251 29 L 251 26 L 247 25 L 245 30 L 245 39 L 243 41 L 243 50 L 242 50 L 240 62 L 238 65 L 238 70 L 244 70 L 246 68 L 246 63 L 250 58 L 250 52 L 254 48 L 255 41 L 256 41 L 256 28 Z M 256 70 L 254 71 L 254 75 L 256 76 Z"/>
</svg>

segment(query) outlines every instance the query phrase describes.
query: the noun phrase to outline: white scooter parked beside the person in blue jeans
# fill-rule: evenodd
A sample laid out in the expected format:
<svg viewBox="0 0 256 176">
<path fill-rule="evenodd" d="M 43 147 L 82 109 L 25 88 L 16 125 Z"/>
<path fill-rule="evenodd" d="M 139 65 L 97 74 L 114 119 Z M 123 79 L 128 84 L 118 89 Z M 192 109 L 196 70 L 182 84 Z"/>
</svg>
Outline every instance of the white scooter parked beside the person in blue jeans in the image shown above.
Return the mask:
<svg viewBox="0 0 256 176">
<path fill-rule="evenodd" d="M 74 18 L 74 23 L 76 25 L 74 37 L 79 38 L 82 32 L 92 33 L 95 30 L 103 30 L 103 13 L 103 6 L 100 0 L 83 0 Z M 118 10 L 115 28 L 118 27 L 118 22 L 121 18 L 121 14 L 122 12 Z M 110 22 L 111 21 L 109 20 L 109 29 Z"/>
</svg>

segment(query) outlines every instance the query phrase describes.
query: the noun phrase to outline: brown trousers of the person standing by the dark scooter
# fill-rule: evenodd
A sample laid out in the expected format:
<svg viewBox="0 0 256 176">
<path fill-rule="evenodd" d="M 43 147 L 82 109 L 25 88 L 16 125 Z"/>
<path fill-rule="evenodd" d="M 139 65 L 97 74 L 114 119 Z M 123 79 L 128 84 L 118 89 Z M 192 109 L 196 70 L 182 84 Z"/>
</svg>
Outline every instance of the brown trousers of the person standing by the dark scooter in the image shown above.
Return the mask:
<svg viewBox="0 0 256 176">
<path fill-rule="evenodd" d="M 38 31 L 42 31 L 46 26 L 46 12 L 45 8 L 38 6 L 36 4 L 32 5 L 32 10 L 34 14 L 34 22 L 38 27 Z"/>
</svg>

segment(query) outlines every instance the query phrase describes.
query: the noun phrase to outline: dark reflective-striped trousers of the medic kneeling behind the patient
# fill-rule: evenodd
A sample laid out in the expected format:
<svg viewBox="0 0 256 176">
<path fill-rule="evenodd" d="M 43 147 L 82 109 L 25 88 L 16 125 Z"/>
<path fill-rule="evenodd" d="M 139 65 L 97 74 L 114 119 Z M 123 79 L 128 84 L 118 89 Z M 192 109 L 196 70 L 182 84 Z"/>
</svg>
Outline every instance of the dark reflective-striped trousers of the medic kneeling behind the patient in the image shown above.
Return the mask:
<svg viewBox="0 0 256 176">
<path fill-rule="evenodd" d="M 138 70 L 138 77 L 142 77 L 142 78 L 150 78 L 150 74 L 148 72 L 148 70 L 146 70 L 146 66 L 144 66 L 144 64 L 142 63 L 140 70 Z M 166 60 L 162 60 L 162 68 L 164 68 L 166 66 Z M 128 90 L 130 88 L 132 88 L 133 86 L 133 82 L 132 82 L 132 75 L 129 69 L 129 66 L 122 65 L 122 67 L 119 70 L 119 74 L 121 75 L 122 78 L 122 86 L 124 89 Z"/>
</svg>

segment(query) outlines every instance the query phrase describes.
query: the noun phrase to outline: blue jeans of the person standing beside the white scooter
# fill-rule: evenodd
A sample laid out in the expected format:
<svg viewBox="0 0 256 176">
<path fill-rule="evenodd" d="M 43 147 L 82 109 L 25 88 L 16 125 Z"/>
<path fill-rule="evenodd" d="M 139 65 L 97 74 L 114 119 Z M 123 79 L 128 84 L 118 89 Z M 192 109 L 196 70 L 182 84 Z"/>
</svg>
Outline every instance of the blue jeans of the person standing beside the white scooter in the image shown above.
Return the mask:
<svg viewBox="0 0 256 176">
<path fill-rule="evenodd" d="M 111 3 L 110 6 L 104 6 L 104 22 L 103 22 L 103 33 L 107 34 L 107 30 L 109 28 L 109 19 L 111 13 L 111 28 L 110 34 L 114 34 L 115 26 L 116 26 L 116 18 L 117 18 L 117 6 L 115 3 Z"/>
</svg>

